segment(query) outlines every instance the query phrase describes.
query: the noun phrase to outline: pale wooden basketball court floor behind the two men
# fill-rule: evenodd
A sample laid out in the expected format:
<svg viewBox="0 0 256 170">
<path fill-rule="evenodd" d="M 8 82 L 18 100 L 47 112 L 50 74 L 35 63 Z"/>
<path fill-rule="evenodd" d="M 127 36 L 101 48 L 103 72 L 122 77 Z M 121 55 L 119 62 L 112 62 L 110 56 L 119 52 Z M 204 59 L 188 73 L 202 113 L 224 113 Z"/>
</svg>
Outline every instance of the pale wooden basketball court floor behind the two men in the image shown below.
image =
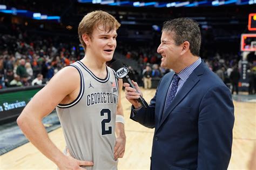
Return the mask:
<svg viewBox="0 0 256 170">
<path fill-rule="evenodd" d="M 156 90 L 143 90 L 144 98 L 150 101 Z M 126 151 L 119 159 L 118 169 L 150 169 L 153 129 L 129 119 L 130 103 L 122 92 L 125 114 Z M 233 129 L 232 157 L 228 169 L 248 169 L 253 149 L 256 149 L 256 101 L 234 101 L 235 124 Z M 49 133 L 50 139 L 63 151 L 65 140 L 62 128 Z M 27 143 L 0 156 L 0 169 L 57 169 L 56 165 Z M 255 168 L 256 169 L 256 168 Z"/>
</svg>

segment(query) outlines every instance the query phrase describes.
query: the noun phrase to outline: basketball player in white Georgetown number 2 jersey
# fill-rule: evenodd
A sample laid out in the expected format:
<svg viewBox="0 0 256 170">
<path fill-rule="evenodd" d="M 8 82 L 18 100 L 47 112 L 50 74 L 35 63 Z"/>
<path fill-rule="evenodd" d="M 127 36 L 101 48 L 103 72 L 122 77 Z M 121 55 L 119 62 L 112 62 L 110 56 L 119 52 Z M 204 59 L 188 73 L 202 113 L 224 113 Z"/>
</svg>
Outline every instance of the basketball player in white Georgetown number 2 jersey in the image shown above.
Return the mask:
<svg viewBox="0 0 256 170">
<path fill-rule="evenodd" d="M 85 57 L 60 70 L 17 119 L 31 143 L 59 169 L 117 169 L 117 159 L 124 155 L 122 81 L 106 66 L 119 26 L 107 12 L 88 13 L 78 27 Z M 70 157 L 53 144 L 42 124 L 55 107 Z"/>
</svg>

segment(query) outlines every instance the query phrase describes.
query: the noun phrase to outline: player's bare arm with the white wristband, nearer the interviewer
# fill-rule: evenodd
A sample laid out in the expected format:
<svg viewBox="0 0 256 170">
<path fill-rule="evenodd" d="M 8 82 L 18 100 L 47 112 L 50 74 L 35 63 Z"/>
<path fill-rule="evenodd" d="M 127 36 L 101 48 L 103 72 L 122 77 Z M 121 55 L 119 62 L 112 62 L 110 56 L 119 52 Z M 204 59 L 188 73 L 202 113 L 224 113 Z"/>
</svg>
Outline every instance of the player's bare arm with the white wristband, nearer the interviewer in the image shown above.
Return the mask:
<svg viewBox="0 0 256 170">
<path fill-rule="evenodd" d="M 117 115 L 124 116 L 123 106 L 121 103 L 121 91 L 123 87 L 122 79 L 118 79 L 118 86 L 119 86 L 119 95 L 118 95 L 118 104 L 117 104 Z M 114 146 L 114 159 L 123 158 L 124 156 L 126 137 L 125 137 L 123 123 L 119 123 L 119 122 L 116 123 L 116 135 L 117 135 L 117 141 L 116 141 L 116 145 Z"/>
</svg>

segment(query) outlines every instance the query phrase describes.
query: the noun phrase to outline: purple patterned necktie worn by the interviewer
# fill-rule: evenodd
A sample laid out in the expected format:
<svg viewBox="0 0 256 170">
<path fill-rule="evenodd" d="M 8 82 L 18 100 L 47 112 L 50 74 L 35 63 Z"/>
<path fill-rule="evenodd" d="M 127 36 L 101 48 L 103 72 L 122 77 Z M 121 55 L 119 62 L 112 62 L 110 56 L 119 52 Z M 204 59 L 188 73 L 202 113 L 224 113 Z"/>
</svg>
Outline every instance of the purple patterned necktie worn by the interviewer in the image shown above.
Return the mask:
<svg viewBox="0 0 256 170">
<path fill-rule="evenodd" d="M 171 105 L 171 102 L 172 102 L 173 98 L 175 97 L 175 94 L 178 89 L 179 79 L 180 79 L 179 76 L 177 74 L 174 74 L 173 80 L 172 80 L 172 86 L 170 87 L 170 89 L 168 91 L 167 99 L 165 101 L 164 112 Z"/>
</svg>

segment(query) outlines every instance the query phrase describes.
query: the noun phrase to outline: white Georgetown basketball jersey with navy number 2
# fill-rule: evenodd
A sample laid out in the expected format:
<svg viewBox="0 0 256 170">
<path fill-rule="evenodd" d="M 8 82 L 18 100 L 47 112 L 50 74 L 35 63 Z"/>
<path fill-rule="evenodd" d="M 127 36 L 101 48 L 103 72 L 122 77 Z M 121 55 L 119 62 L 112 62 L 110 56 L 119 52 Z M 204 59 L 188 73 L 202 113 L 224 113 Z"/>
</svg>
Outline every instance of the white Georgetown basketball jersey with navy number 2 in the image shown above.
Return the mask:
<svg viewBox="0 0 256 170">
<path fill-rule="evenodd" d="M 80 74 L 80 92 L 70 104 L 56 107 L 66 145 L 78 160 L 92 161 L 90 169 L 117 169 L 114 160 L 118 80 L 106 66 L 107 77 L 96 77 L 82 62 L 71 64 Z"/>
</svg>

